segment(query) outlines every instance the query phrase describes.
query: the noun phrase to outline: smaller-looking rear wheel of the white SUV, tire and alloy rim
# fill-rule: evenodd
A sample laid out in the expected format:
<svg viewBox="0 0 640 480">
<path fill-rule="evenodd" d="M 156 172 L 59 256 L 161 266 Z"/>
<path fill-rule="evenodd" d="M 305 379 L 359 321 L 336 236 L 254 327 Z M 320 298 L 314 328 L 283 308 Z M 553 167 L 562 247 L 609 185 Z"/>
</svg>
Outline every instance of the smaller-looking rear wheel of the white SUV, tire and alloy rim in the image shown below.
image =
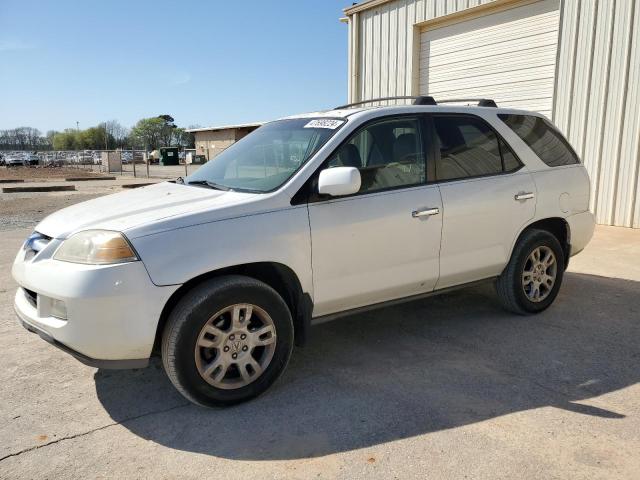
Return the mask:
<svg viewBox="0 0 640 480">
<path fill-rule="evenodd" d="M 537 229 L 524 232 L 496 282 L 502 305 L 520 315 L 548 308 L 560 290 L 564 264 L 564 252 L 554 235 Z"/>
</svg>

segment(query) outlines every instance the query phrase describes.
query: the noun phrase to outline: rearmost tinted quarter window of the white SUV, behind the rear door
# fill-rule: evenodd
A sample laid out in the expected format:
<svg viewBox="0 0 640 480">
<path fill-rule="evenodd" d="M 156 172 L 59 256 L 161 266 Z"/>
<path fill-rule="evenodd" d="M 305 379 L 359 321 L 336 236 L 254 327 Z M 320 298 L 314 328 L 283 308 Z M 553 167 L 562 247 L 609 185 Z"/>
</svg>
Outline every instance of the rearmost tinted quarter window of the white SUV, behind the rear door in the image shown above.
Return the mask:
<svg viewBox="0 0 640 480">
<path fill-rule="evenodd" d="M 580 163 L 569 142 L 544 118 L 512 114 L 498 117 L 550 167 Z"/>
</svg>

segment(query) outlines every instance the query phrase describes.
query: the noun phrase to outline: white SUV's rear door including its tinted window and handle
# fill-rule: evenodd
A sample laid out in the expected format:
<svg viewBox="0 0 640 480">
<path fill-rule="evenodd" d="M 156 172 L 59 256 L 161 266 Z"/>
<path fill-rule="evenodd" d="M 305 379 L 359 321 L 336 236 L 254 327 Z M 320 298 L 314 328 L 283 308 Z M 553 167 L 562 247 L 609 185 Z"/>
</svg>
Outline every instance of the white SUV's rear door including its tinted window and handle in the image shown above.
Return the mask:
<svg viewBox="0 0 640 480">
<path fill-rule="evenodd" d="M 431 116 L 444 207 L 440 279 L 446 288 L 499 275 L 536 210 L 531 174 L 475 115 Z"/>
</svg>

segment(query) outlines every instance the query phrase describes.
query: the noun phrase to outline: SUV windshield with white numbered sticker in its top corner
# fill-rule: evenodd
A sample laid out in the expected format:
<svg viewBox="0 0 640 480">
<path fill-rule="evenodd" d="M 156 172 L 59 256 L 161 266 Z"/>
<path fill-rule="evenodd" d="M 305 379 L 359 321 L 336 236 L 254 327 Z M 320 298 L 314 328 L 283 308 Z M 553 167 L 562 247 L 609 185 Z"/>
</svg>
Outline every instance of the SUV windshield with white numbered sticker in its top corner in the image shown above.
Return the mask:
<svg viewBox="0 0 640 480">
<path fill-rule="evenodd" d="M 212 188 L 269 192 L 280 187 L 342 126 L 344 119 L 267 123 L 184 179 Z"/>
</svg>

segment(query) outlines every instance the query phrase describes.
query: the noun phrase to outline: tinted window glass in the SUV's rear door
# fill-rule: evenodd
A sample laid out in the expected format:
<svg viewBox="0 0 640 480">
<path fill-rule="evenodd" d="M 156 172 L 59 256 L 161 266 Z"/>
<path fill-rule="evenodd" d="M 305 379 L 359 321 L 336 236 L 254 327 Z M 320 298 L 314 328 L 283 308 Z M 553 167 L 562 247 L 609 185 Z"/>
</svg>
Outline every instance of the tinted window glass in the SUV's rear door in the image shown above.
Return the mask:
<svg viewBox="0 0 640 480">
<path fill-rule="evenodd" d="M 436 178 L 498 175 L 518 170 L 515 154 L 482 119 L 472 116 L 433 117 L 440 154 L 436 158 Z"/>
</svg>

